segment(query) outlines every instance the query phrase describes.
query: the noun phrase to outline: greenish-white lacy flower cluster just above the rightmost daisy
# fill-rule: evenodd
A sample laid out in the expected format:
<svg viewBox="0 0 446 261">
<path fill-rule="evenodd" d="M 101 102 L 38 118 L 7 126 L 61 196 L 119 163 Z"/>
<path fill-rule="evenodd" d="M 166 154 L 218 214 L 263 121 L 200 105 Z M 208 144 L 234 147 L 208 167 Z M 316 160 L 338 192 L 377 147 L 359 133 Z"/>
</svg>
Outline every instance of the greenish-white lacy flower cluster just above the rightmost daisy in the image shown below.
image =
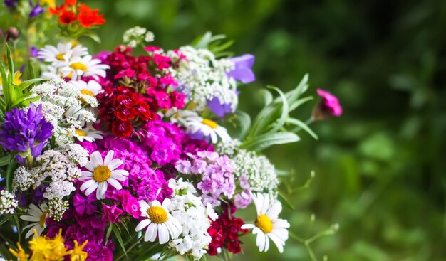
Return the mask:
<svg viewBox="0 0 446 261">
<path fill-rule="evenodd" d="M 254 151 L 240 149 L 237 156 L 232 158 L 236 165 L 237 177 L 246 175 L 251 191 L 273 194 L 279 186 L 274 165 L 263 155 L 257 155 Z"/>
</svg>

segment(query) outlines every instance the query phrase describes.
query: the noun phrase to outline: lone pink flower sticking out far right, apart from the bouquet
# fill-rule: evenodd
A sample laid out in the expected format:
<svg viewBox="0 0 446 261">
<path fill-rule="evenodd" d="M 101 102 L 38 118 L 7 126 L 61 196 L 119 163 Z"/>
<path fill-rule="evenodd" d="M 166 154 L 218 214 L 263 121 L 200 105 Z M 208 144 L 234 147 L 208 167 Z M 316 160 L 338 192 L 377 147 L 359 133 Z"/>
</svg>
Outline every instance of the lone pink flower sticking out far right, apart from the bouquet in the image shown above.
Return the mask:
<svg viewBox="0 0 446 261">
<path fill-rule="evenodd" d="M 339 117 L 342 114 L 342 107 L 336 96 L 326 90 L 317 89 L 318 95 L 322 97 L 321 102 L 314 108 L 313 119 L 321 120 L 331 116 Z"/>
</svg>

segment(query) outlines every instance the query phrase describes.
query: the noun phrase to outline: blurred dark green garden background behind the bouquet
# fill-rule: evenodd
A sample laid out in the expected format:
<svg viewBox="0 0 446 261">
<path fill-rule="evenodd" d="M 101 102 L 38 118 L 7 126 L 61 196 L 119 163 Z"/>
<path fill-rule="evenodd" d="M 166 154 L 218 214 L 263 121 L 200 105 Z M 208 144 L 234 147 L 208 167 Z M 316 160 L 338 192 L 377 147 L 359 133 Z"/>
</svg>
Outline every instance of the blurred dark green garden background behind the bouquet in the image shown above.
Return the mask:
<svg viewBox="0 0 446 261">
<path fill-rule="evenodd" d="M 107 19 L 103 43 L 88 45 L 94 51 L 112 50 L 133 26 L 153 31 L 165 49 L 206 31 L 235 40 L 235 54 L 256 55 L 257 81 L 241 88 L 251 115 L 261 87 L 290 90 L 304 73 L 311 94 L 321 87 L 340 98 L 342 117 L 311 126 L 319 141 L 301 133 L 301 142 L 266 151 L 279 169 L 294 170 L 291 188 L 316 171 L 283 215 L 303 238 L 339 223 L 336 235 L 311 244 L 318 260 L 446 260 L 446 1 L 85 2 Z M 310 260 L 295 240 L 283 255 L 275 247 L 259 254 L 246 237 L 235 260 Z"/>
</svg>

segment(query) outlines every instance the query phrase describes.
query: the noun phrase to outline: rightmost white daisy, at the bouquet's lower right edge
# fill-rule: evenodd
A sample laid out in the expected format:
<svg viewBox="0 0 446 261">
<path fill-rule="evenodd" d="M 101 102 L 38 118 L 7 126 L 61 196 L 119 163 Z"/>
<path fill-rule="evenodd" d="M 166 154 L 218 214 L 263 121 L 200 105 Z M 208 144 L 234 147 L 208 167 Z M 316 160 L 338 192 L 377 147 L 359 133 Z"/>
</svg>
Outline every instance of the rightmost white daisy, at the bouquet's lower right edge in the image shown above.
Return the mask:
<svg viewBox="0 0 446 261">
<path fill-rule="evenodd" d="M 254 224 L 244 224 L 242 229 L 253 229 L 252 233 L 257 234 L 256 245 L 260 252 L 269 249 L 269 239 L 271 239 L 279 252 L 284 252 L 285 241 L 288 239 L 288 221 L 280 219 L 279 213 L 282 211 L 282 204 L 279 201 L 270 206 L 268 195 L 258 193 L 252 194 L 252 200 L 256 206 L 257 218 Z M 271 202 L 272 203 L 272 202 Z"/>
</svg>

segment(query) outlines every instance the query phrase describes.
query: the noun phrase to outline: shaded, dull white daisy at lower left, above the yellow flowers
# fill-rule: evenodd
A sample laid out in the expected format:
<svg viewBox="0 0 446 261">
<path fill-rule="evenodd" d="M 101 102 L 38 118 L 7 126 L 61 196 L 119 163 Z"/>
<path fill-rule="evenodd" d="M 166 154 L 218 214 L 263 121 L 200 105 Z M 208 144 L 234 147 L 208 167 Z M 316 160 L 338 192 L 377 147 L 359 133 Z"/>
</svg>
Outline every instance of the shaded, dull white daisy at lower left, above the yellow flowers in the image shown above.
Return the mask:
<svg viewBox="0 0 446 261">
<path fill-rule="evenodd" d="M 24 229 L 30 228 L 28 233 L 26 233 L 25 238 L 31 237 L 34 234 L 34 230 L 37 231 L 37 235 L 41 235 L 43 230 L 46 228 L 46 218 L 48 217 L 50 211 L 46 203 L 42 203 L 40 206 L 30 204 L 28 208 L 29 215 L 21 215 L 22 220 L 29 222 Z"/>
</svg>

